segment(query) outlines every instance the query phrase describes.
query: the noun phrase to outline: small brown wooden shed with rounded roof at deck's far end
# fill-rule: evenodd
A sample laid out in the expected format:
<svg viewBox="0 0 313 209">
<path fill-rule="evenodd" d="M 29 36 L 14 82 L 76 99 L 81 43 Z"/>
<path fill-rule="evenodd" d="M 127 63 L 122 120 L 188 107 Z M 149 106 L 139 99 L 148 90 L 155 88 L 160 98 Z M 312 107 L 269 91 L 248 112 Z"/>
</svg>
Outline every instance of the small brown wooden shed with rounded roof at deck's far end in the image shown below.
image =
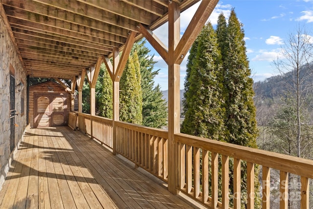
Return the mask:
<svg viewBox="0 0 313 209">
<path fill-rule="evenodd" d="M 47 81 L 29 87 L 29 122 L 31 128 L 67 124 L 71 94 L 61 85 Z"/>
</svg>

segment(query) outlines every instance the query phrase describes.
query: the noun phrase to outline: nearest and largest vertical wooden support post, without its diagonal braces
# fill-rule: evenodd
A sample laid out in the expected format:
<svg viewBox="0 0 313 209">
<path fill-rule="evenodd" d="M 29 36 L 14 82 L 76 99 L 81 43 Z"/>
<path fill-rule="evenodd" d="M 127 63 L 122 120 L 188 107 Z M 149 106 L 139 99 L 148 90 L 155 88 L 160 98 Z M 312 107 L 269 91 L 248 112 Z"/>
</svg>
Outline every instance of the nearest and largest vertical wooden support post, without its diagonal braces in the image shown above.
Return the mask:
<svg viewBox="0 0 313 209">
<path fill-rule="evenodd" d="M 168 23 L 168 190 L 177 194 L 179 185 L 178 145 L 175 134 L 180 132 L 180 107 L 179 107 L 179 78 L 180 65 L 175 64 L 174 52 L 180 39 L 180 9 L 177 2 L 169 2 Z"/>
</svg>

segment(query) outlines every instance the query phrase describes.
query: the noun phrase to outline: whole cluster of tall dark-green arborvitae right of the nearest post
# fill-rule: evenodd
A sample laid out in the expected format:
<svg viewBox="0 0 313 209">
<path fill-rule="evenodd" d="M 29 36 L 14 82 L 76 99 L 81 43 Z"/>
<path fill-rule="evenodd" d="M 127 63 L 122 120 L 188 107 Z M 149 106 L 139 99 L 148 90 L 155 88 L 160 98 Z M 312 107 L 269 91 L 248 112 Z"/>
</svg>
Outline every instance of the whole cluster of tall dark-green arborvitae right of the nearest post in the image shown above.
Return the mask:
<svg viewBox="0 0 313 209">
<path fill-rule="evenodd" d="M 253 104 L 253 81 L 242 24 L 234 10 L 228 24 L 219 16 L 216 33 L 205 25 L 191 47 L 183 100 L 185 120 L 181 132 L 257 147 L 256 109 Z M 221 174 L 221 159 L 219 159 Z M 233 159 L 229 161 L 230 198 L 233 198 Z M 246 206 L 246 162 L 242 162 L 242 208 Z M 255 166 L 255 208 L 261 207 L 258 182 L 259 167 Z M 221 194 L 219 181 L 219 194 Z M 230 204 L 230 207 L 232 205 Z"/>
</svg>

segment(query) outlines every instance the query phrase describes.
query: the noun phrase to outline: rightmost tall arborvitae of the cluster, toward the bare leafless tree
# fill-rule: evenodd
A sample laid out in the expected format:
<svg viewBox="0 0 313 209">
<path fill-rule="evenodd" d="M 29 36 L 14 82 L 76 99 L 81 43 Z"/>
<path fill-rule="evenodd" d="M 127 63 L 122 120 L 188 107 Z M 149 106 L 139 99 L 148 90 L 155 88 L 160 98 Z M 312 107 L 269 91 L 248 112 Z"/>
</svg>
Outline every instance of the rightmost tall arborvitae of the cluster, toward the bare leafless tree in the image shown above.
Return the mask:
<svg viewBox="0 0 313 209">
<path fill-rule="evenodd" d="M 238 21 L 235 11 L 232 9 L 224 37 L 223 17 L 219 18 L 220 47 L 223 57 L 224 70 L 224 98 L 225 98 L 225 140 L 230 143 L 249 147 L 257 147 L 258 135 L 256 122 L 256 108 L 253 103 L 254 92 L 253 80 L 250 78 L 251 70 L 246 57 L 246 46 L 244 41 L 244 30 Z M 230 161 L 230 168 L 233 163 Z M 259 167 L 255 167 L 255 208 L 260 208 L 258 182 Z M 242 191 L 246 191 L 246 162 L 242 163 Z M 232 190 L 232 174 L 230 175 L 230 186 Z M 243 208 L 246 204 L 246 192 L 242 192 Z"/>
</svg>

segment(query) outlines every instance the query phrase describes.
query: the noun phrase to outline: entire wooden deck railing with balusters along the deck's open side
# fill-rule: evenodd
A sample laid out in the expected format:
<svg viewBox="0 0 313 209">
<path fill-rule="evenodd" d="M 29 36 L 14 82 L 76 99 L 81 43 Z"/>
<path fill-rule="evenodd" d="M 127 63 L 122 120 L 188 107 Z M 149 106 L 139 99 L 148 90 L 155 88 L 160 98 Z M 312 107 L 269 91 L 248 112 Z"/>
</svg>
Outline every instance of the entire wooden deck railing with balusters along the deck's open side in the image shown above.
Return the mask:
<svg viewBox="0 0 313 209">
<path fill-rule="evenodd" d="M 92 120 L 92 133 L 91 123 Z M 168 132 L 131 123 L 116 121 L 116 152 L 134 162 L 153 175 L 167 182 L 168 178 Z M 112 120 L 79 114 L 81 131 L 93 134 L 95 139 L 109 142 L 112 146 Z M 204 139 L 186 134 L 176 134 L 178 147 L 177 189 L 208 208 L 241 208 L 242 198 L 246 198 L 246 208 L 254 208 L 254 197 L 262 197 L 262 208 L 270 208 L 270 170 L 280 172 L 279 205 L 288 207 L 288 176 L 299 176 L 300 186 L 297 193 L 298 208 L 309 209 L 309 180 L 313 179 L 313 161 L 268 152 L 260 149 Z M 230 169 L 229 162 L 232 162 Z M 246 174 L 241 173 L 245 164 Z M 262 181 L 255 179 L 254 168 L 262 168 Z M 222 174 L 219 173 L 222 171 Z M 230 173 L 233 173 L 233 198 L 229 196 Z M 241 191 L 242 176 L 246 176 L 246 191 Z M 222 182 L 219 187 L 219 181 Z M 261 190 L 256 191 L 254 183 L 259 181 Z M 222 191 L 219 194 L 219 190 Z M 242 194 L 245 193 L 245 197 Z M 294 194 L 293 194 L 294 195 Z M 231 201 L 231 204 L 229 202 Z"/>
</svg>

